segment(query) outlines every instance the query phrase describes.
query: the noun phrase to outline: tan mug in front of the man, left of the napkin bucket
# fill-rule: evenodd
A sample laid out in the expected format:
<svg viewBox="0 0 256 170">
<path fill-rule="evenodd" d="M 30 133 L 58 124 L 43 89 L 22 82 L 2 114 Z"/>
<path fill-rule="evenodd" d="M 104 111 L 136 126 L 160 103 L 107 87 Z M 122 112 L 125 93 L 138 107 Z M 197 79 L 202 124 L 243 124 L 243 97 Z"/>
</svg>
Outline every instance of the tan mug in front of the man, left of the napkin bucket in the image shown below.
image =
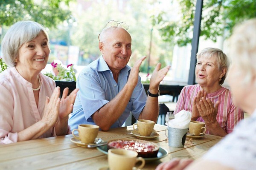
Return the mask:
<svg viewBox="0 0 256 170">
<path fill-rule="evenodd" d="M 137 125 L 138 130 L 135 129 L 135 125 Z M 151 120 L 144 120 L 144 119 L 139 119 L 137 120 L 137 123 L 133 124 L 133 129 L 137 133 L 140 133 L 140 136 L 150 136 L 154 129 L 155 122 Z"/>
</svg>

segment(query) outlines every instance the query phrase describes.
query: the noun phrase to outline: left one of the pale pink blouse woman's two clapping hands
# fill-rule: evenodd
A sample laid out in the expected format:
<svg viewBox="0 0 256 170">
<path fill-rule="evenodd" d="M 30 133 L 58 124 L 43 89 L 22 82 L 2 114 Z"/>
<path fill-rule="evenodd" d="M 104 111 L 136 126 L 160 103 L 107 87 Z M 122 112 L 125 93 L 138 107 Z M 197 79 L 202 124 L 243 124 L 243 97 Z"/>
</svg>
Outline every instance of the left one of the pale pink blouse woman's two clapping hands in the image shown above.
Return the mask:
<svg viewBox="0 0 256 170">
<path fill-rule="evenodd" d="M 48 127 L 52 127 L 58 120 L 58 113 L 60 107 L 60 88 L 56 87 L 52 93 L 51 98 L 47 97 L 45 100 L 44 114 L 41 122 L 44 122 Z"/>
</svg>

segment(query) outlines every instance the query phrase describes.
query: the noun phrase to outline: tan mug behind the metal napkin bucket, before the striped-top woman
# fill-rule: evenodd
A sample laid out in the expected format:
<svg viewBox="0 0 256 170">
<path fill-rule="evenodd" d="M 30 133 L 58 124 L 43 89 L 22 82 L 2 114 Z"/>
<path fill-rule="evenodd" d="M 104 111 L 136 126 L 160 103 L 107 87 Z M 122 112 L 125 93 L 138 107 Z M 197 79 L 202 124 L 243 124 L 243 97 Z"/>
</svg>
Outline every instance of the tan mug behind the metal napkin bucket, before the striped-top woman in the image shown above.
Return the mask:
<svg viewBox="0 0 256 170">
<path fill-rule="evenodd" d="M 189 123 L 189 134 L 200 136 L 206 132 L 205 123 L 192 120 Z"/>
</svg>

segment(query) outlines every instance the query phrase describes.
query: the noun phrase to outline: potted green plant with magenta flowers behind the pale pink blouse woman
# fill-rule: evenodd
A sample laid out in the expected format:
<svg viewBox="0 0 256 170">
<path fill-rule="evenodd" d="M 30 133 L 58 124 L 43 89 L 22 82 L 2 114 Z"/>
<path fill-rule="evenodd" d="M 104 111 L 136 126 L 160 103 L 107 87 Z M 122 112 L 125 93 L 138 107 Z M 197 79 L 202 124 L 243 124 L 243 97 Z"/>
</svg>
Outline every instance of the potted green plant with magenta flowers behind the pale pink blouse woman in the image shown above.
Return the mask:
<svg viewBox="0 0 256 170">
<path fill-rule="evenodd" d="M 76 72 L 73 67 L 73 64 L 67 65 L 65 68 L 61 64 L 57 64 L 52 62 L 52 67 L 57 71 L 57 74 L 54 75 L 52 73 L 44 73 L 44 75 L 51 77 L 54 80 L 64 80 L 64 81 L 75 81 L 76 82 Z"/>
</svg>

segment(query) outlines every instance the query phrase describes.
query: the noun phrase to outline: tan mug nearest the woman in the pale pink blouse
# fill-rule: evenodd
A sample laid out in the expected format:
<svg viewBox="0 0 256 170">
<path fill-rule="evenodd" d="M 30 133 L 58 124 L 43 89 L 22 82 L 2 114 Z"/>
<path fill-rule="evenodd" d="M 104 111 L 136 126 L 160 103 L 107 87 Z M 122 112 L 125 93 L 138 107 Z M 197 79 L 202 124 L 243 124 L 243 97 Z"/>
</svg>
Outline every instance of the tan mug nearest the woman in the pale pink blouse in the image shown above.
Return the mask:
<svg viewBox="0 0 256 170">
<path fill-rule="evenodd" d="M 78 135 L 76 136 L 74 134 L 75 131 L 78 131 Z M 87 124 L 82 124 L 78 125 L 78 129 L 73 129 L 72 130 L 72 135 L 80 140 L 82 143 L 94 143 L 94 140 L 98 136 L 99 133 L 99 126 L 98 125 L 87 125 Z"/>
</svg>

